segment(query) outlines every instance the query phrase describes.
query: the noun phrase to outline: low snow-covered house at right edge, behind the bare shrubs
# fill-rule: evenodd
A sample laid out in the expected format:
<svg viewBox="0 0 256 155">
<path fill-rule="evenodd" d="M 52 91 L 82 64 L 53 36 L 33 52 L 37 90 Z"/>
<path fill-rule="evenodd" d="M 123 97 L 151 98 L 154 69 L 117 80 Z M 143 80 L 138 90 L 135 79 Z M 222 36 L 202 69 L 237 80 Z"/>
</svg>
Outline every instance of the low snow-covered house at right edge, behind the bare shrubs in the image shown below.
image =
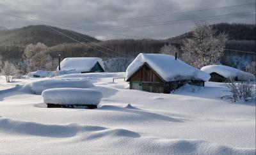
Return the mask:
<svg viewBox="0 0 256 155">
<path fill-rule="evenodd" d="M 231 78 L 236 81 L 255 80 L 255 76 L 236 68 L 224 65 L 209 65 L 201 68 L 205 73 L 209 73 L 211 82 L 225 82 Z"/>
</svg>

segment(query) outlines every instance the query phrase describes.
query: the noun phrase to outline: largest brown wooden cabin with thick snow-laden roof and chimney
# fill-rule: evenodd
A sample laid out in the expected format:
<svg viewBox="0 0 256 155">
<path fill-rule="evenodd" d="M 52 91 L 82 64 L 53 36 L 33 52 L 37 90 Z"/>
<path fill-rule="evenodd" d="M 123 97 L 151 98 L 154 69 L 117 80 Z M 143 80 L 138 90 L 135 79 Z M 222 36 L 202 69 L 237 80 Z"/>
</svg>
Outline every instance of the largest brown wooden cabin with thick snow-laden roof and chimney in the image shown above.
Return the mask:
<svg viewBox="0 0 256 155">
<path fill-rule="evenodd" d="M 139 54 L 126 70 L 130 89 L 170 93 L 189 83 L 204 86 L 210 75 L 165 54 Z"/>
</svg>

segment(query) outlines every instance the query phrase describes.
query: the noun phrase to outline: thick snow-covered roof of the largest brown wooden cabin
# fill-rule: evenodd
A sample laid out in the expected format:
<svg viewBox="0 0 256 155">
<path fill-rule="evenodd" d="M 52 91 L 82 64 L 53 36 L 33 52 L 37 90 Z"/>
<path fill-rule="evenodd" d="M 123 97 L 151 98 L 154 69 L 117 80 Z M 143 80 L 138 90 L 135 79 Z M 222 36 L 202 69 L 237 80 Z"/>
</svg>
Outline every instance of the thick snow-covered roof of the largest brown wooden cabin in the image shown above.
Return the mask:
<svg viewBox="0 0 256 155">
<path fill-rule="evenodd" d="M 210 75 L 200 71 L 189 64 L 175 60 L 172 55 L 166 54 L 139 54 L 126 70 L 127 79 L 129 79 L 143 64 L 147 63 L 156 73 L 166 82 L 179 80 L 204 80 L 208 81 Z M 182 79 L 180 79 L 182 78 Z"/>
</svg>

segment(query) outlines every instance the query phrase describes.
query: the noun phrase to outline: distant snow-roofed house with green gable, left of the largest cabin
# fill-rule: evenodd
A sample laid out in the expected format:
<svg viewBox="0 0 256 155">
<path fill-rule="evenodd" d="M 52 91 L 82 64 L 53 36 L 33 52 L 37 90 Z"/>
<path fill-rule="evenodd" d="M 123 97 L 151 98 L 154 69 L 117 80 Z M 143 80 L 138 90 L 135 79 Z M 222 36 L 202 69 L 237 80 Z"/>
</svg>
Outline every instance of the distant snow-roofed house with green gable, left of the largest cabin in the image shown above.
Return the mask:
<svg viewBox="0 0 256 155">
<path fill-rule="evenodd" d="M 76 70 L 81 73 L 104 72 L 99 57 L 67 57 L 60 63 L 61 70 Z"/>
</svg>

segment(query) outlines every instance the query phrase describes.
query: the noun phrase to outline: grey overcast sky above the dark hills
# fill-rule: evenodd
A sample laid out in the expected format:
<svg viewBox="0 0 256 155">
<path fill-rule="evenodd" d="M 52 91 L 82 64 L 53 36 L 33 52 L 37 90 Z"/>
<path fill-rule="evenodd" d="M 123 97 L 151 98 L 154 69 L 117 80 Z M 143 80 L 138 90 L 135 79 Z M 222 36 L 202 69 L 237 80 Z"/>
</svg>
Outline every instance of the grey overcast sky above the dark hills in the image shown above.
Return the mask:
<svg viewBox="0 0 256 155">
<path fill-rule="evenodd" d="M 47 24 L 72 29 L 94 36 L 100 40 L 116 38 L 154 38 L 164 39 L 185 33 L 193 29 L 192 20 L 203 18 L 222 18 L 208 20 L 208 24 L 219 22 L 242 22 L 255 24 L 255 3 L 253 0 L 0 0 L 0 26 L 8 29 Z M 204 10 L 248 4 L 232 8 L 163 15 L 176 12 Z M 254 11 L 252 13 L 248 13 Z M 246 13 L 247 12 L 247 13 Z M 20 17 L 33 18 L 49 24 L 10 17 L 8 13 Z M 236 14 L 243 13 L 243 14 Z M 232 14 L 232 15 L 230 15 Z M 234 15 L 235 14 L 235 15 Z M 148 17 L 156 16 L 157 17 Z M 219 15 L 226 15 L 218 17 Z M 239 16 L 240 17 L 237 17 Z M 247 15 L 247 16 L 241 16 Z M 236 17 L 234 17 L 236 16 Z M 134 18 L 143 17 L 143 18 Z M 147 17 L 147 18 L 146 18 Z M 233 18 L 223 18 L 233 17 Z M 130 18 L 126 20 L 115 20 Z M 131 19 L 132 18 L 132 19 Z M 190 19 L 190 20 L 186 20 Z M 105 20 L 102 22 L 102 20 Z M 106 21 L 109 20 L 109 21 Z M 173 24 L 173 20 L 179 22 Z M 155 23 L 154 23 L 155 22 Z M 156 23 L 158 22 L 158 23 Z M 162 23 L 161 23 L 162 22 Z M 182 23 L 183 22 L 183 23 Z M 164 23 L 164 25 L 163 25 Z M 62 24 L 62 26 L 60 25 Z M 65 24 L 65 25 L 63 25 Z M 137 25 L 136 25 L 137 24 Z M 158 24 L 158 26 L 148 26 Z M 159 25 L 161 24 L 161 25 Z M 131 26 L 133 25 L 133 26 Z M 145 26 L 147 25 L 147 26 Z M 123 27 L 113 27 L 123 26 Z M 90 31 L 89 31 L 90 30 Z"/>
</svg>

